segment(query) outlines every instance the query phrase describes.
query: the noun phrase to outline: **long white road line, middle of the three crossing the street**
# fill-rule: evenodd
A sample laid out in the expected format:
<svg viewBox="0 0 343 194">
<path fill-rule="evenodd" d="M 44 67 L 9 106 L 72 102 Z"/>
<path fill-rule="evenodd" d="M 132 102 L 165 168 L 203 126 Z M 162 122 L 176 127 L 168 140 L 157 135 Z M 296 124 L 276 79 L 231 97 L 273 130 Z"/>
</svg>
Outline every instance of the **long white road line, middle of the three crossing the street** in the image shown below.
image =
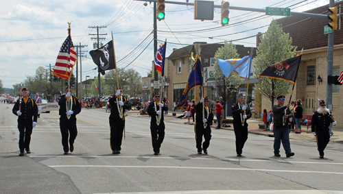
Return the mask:
<svg viewBox="0 0 343 194">
<path fill-rule="evenodd" d="M 267 172 L 283 172 L 283 173 L 324 173 L 324 174 L 338 174 L 339 172 L 325 172 L 325 171 L 294 171 L 294 170 L 272 170 L 272 169 L 243 169 L 243 168 L 223 168 L 223 167 L 176 167 L 176 166 L 116 166 L 116 165 L 51 165 L 51 168 L 140 168 L 140 169 L 201 169 L 201 170 L 228 170 L 228 171 L 267 171 Z"/>
</svg>

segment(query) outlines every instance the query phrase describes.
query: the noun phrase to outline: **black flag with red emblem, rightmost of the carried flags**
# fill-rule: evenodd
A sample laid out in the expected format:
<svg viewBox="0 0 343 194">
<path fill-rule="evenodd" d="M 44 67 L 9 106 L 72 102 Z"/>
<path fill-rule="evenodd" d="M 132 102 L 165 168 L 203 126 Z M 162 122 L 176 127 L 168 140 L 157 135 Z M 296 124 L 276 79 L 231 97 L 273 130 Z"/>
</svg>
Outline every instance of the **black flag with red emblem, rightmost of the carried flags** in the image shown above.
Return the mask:
<svg viewBox="0 0 343 194">
<path fill-rule="evenodd" d="M 265 69 L 259 78 L 261 77 L 270 77 L 280 80 L 285 80 L 288 82 L 296 83 L 296 75 L 298 74 L 298 68 L 300 65 L 302 54 L 294 57 L 283 60 L 276 64 L 272 64 Z"/>
</svg>

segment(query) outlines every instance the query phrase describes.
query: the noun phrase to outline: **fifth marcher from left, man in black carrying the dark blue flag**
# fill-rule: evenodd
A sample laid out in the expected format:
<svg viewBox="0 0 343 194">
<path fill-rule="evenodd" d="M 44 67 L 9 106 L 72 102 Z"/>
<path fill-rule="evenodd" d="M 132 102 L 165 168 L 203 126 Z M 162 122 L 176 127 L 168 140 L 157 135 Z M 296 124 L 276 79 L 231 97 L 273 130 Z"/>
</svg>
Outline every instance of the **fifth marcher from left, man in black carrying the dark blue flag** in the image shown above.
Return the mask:
<svg viewBox="0 0 343 194">
<path fill-rule="evenodd" d="M 204 106 L 204 108 L 202 108 Z M 207 148 L 211 141 L 211 123 L 213 121 L 213 112 L 209 107 L 209 98 L 205 97 L 200 99 L 200 102 L 196 105 L 196 125 L 194 131 L 196 132 L 196 148 L 198 154 L 207 154 Z M 205 141 L 202 143 L 202 136 Z M 201 146 L 202 144 L 202 146 Z"/>
</svg>

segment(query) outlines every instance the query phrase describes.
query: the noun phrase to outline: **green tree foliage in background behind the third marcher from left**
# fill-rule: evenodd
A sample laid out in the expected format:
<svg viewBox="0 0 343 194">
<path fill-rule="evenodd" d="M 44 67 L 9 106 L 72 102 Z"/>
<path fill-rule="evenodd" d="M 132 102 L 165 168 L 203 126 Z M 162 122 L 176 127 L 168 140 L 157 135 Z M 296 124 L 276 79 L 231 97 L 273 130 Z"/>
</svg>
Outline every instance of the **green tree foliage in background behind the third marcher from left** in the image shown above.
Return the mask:
<svg viewBox="0 0 343 194">
<path fill-rule="evenodd" d="M 116 70 L 107 71 L 105 74 L 105 83 L 109 86 L 111 93 L 115 93 L 117 89 L 117 73 Z M 124 95 L 136 97 L 141 94 L 141 74 L 134 69 L 121 69 L 118 68 L 118 82 L 119 86 L 123 88 Z"/>
</svg>

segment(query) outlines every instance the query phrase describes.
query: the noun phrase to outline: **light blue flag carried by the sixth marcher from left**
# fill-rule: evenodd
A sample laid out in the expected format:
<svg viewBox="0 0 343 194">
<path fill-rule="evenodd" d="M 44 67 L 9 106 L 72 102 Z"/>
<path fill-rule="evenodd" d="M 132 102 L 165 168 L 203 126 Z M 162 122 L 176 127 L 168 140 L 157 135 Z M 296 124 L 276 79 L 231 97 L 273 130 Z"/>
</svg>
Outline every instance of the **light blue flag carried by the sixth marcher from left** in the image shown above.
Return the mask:
<svg viewBox="0 0 343 194">
<path fill-rule="evenodd" d="M 245 64 L 248 62 L 249 56 L 244 56 L 244 58 L 237 58 L 237 59 L 229 59 L 229 60 L 221 60 L 218 59 L 218 64 L 220 66 L 220 70 L 225 75 L 225 77 L 230 77 L 231 73 L 237 69 L 238 66 L 241 64 Z"/>
</svg>

